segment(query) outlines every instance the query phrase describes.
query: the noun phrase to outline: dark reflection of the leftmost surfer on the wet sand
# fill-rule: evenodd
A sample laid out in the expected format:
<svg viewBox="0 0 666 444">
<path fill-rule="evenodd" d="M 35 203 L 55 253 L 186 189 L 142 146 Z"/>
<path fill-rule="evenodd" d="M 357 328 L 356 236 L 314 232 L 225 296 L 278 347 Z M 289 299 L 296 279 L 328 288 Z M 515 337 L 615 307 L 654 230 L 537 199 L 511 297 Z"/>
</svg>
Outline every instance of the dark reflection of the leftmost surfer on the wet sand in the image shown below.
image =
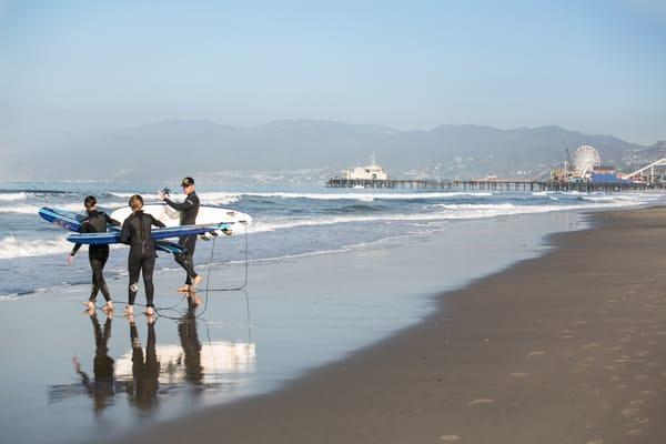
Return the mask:
<svg viewBox="0 0 666 444">
<path fill-rule="evenodd" d="M 94 402 L 94 413 L 100 414 L 107 405 L 108 400 L 113 398 L 113 359 L 109 356 L 109 339 L 111 337 L 111 316 L 107 317 L 104 329 L 100 326 L 95 314 L 90 316 L 92 321 L 92 330 L 94 333 L 94 360 L 93 373 L 94 381 L 90 381 L 90 376 L 81 370 L 81 363 L 77 356 L 72 359 L 74 371 L 81 376 L 81 383 L 85 386 L 88 394 Z"/>
</svg>

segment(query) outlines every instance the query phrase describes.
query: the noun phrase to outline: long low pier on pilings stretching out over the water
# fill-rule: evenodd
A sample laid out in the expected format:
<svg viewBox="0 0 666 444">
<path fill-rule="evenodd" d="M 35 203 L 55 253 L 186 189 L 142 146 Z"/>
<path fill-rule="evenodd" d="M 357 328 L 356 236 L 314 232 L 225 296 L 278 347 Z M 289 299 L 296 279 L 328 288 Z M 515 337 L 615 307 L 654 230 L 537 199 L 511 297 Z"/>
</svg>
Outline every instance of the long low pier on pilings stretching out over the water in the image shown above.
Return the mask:
<svg viewBox="0 0 666 444">
<path fill-rule="evenodd" d="M 664 189 L 662 184 L 639 182 L 594 183 L 531 180 L 372 180 L 341 179 L 326 181 L 326 188 L 412 189 L 444 191 L 645 191 Z"/>
</svg>

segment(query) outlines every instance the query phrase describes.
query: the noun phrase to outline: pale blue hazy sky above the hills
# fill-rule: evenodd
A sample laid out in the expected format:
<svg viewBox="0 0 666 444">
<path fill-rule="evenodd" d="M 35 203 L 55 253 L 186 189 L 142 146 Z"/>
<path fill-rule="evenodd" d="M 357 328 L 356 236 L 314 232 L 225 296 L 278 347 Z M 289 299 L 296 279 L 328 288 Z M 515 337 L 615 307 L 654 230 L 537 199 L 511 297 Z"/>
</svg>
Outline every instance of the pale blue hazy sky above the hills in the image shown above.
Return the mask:
<svg viewBox="0 0 666 444">
<path fill-rule="evenodd" d="M 666 140 L 660 4 L 0 0 L 0 129 L 16 142 L 310 118 L 652 144 Z"/>
</svg>

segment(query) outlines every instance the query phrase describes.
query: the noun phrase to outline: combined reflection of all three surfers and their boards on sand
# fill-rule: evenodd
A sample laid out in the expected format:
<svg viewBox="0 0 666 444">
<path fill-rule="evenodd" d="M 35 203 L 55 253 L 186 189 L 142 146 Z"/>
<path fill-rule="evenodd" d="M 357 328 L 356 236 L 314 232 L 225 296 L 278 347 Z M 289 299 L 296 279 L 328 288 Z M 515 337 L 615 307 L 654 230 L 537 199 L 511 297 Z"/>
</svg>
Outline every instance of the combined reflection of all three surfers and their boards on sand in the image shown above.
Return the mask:
<svg viewBox="0 0 666 444">
<path fill-rule="evenodd" d="M 248 342 L 211 340 L 208 322 L 196 317 L 196 305 L 190 300 L 180 317 L 162 317 L 159 327 L 154 320 L 147 322 L 145 333 L 131 319 L 131 351 L 114 361 L 109 356 L 111 319 L 107 319 L 102 329 L 97 315 L 90 316 L 95 341 L 94 380 L 83 370 L 84 361 L 74 357 L 74 371 L 80 381 L 50 386 L 49 401 L 62 402 L 87 394 L 93 400 L 95 415 L 100 415 L 107 406 L 118 401 L 117 395 L 123 394 L 130 405 L 149 413 L 161 400 L 179 393 L 198 398 L 205 393 L 235 391 L 248 381 L 239 375 L 254 372 L 255 344 L 250 339 Z M 170 320 L 176 322 L 180 344 L 159 344 L 157 330 L 169 333 L 168 329 L 172 325 Z M 202 327 L 203 343 L 200 337 Z M 142 333 L 145 334 L 144 347 Z"/>
</svg>

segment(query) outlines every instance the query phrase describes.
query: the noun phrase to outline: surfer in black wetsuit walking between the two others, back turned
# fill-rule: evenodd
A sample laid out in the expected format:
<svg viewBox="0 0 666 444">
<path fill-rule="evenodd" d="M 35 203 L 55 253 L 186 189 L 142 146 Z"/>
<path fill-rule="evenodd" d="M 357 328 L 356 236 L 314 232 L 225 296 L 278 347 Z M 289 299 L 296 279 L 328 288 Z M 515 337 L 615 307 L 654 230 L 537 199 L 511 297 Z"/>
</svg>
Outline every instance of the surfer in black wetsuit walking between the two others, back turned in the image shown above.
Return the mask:
<svg viewBox="0 0 666 444">
<path fill-rule="evenodd" d="M 144 213 L 143 198 L 134 194 L 130 198 L 132 214 L 122 223 L 120 241 L 130 245 L 128 255 L 128 270 L 130 272 L 130 285 L 128 305 L 125 313 L 134 313 L 134 299 L 139 291 L 139 274 L 143 272 L 143 286 L 145 287 L 145 314 L 155 314 L 153 305 L 154 286 L 152 273 L 155 268 L 155 241 L 151 235 L 151 225 L 164 228 L 164 224 L 152 215 Z"/>
</svg>

